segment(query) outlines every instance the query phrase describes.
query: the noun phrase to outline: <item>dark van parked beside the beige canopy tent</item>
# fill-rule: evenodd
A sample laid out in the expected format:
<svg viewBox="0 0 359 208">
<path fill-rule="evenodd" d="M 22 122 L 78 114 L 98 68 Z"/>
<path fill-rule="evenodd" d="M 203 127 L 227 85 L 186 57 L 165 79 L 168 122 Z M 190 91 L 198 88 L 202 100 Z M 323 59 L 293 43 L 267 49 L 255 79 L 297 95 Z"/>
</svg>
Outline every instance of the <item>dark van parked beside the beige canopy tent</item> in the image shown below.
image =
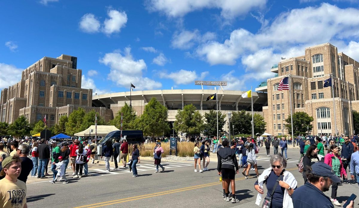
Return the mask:
<svg viewBox="0 0 359 208">
<path fill-rule="evenodd" d="M 144 143 L 143 132 L 141 130 L 123 130 L 122 137 L 127 140 L 129 144 L 135 143 Z M 107 140 L 111 139 L 112 143 L 115 139 L 120 139 L 121 141 L 121 131 L 111 131 L 106 136 L 104 136 L 101 140 L 98 141 L 98 145 L 104 145 Z M 122 141 L 121 141 L 122 142 Z"/>
</svg>

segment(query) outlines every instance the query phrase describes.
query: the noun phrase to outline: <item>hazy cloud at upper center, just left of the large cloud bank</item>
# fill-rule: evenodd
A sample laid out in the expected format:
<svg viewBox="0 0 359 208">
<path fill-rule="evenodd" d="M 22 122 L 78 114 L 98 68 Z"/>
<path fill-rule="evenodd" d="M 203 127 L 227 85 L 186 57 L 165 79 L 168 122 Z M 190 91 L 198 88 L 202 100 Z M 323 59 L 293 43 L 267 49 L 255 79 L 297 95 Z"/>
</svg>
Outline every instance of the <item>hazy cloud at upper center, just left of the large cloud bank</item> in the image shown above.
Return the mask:
<svg viewBox="0 0 359 208">
<path fill-rule="evenodd" d="M 207 32 L 204 35 L 201 35 L 198 29 L 195 29 L 194 31 L 183 30 L 173 34 L 171 45 L 174 48 L 189 49 L 193 47 L 195 43 L 205 43 L 215 38 L 216 34 L 212 32 Z"/>
</svg>

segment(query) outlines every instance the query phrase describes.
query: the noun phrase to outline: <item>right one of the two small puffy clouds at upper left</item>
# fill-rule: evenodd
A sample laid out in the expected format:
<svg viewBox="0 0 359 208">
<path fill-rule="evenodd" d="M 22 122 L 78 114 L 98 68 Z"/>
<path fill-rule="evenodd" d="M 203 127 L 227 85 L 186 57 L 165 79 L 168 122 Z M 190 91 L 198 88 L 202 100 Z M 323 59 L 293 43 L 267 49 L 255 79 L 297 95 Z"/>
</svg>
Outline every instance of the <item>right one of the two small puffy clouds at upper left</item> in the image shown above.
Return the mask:
<svg viewBox="0 0 359 208">
<path fill-rule="evenodd" d="M 120 32 L 122 27 L 125 27 L 127 23 L 127 14 L 124 11 L 108 10 L 107 15 L 109 19 L 104 21 L 103 32 L 106 34 L 112 34 Z"/>
</svg>

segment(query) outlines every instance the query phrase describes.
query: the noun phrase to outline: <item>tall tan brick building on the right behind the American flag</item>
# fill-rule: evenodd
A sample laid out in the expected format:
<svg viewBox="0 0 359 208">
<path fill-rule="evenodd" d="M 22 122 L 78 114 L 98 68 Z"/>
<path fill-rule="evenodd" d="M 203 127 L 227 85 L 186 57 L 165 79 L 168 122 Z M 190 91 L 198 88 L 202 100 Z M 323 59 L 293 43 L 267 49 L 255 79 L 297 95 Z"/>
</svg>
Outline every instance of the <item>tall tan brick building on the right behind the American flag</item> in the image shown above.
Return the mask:
<svg viewBox="0 0 359 208">
<path fill-rule="evenodd" d="M 268 106 L 263 107 L 267 132 L 287 134 L 284 119 L 290 115 L 289 91 L 278 91 L 283 77 L 290 75 L 292 111 L 304 111 L 312 116 L 312 134 L 353 134 L 352 111 L 359 110 L 359 63 L 330 43 L 305 48 L 305 54 L 284 59 L 272 66 L 278 76 L 256 91 L 267 92 Z M 332 74 L 332 87 L 323 87 Z M 334 119 L 333 89 L 336 112 Z M 357 132 L 359 133 L 359 132 Z"/>
</svg>

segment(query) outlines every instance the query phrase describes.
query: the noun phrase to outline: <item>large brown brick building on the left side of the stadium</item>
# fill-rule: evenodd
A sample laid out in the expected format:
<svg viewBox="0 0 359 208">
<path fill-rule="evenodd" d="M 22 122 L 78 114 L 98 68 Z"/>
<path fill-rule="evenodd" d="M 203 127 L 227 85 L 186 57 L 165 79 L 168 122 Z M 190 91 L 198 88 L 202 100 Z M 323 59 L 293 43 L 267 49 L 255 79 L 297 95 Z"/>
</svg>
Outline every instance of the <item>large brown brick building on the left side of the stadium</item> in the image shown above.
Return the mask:
<svg viewBox="0 0 359 208">
<path fill-rule="evenodd" d="M 106 121 L 112 119 L 111 109 L 92 107 L 92 89 L 81 88 L 81 75 L 74 56 L 62 54 L 36 61 L 22 71 L 18 83 L 1 90 L 1 122 L 11 124 L 23 115 L 29 123 L 36 123 L 46 116 L 51 127 L 78 107 L 86 112 L 95 110 Z"/>
</svg>

